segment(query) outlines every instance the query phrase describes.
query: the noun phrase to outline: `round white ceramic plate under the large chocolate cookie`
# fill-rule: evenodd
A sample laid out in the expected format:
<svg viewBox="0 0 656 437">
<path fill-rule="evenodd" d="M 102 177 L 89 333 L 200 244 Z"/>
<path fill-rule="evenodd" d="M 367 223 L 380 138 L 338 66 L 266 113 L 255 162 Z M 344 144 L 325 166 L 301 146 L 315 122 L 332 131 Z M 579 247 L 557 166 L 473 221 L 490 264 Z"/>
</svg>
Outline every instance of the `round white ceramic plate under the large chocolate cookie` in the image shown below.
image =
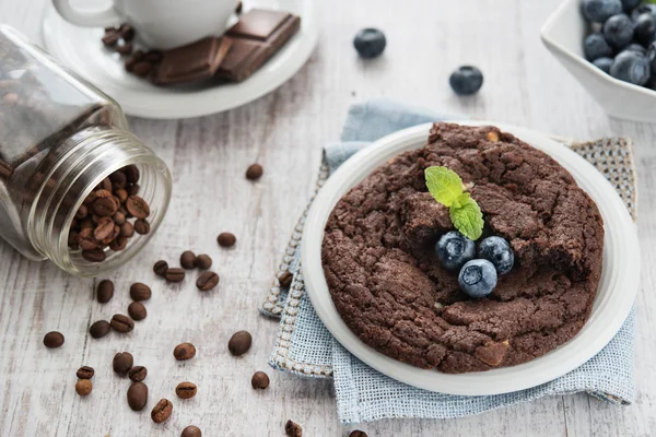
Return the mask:
<svg viewBox="0 0 656 437">
<path fill-rule="evenodd" d="M 378 371 L 425 390 L 449 394 L 485 395 L 539 386 L 562 376 L 597 354 L 618 332 L 629 315 L 639 287 L 640 251 L 635 225 L 612 186 L 591 164 L 548 137 L 523 128 L 493 122 L 551 155 L 597 202 L 604 216 L 604 264 L 593 312 L 581 332 L 548 354 L 514 367 L 481 373 L 446 375 L 393 359 L 365 345 L 337 312 L 321 269 L 324 227 L 335 204 L 353 186 L 387 160 L 426 142 L 431 125 L 406 129 L 378 140 L 347 161 L 327 180 L 308 213 L 302 243 L 303 279 L 313 306 L 328 330 L 358 358 Z"/>
</svg>

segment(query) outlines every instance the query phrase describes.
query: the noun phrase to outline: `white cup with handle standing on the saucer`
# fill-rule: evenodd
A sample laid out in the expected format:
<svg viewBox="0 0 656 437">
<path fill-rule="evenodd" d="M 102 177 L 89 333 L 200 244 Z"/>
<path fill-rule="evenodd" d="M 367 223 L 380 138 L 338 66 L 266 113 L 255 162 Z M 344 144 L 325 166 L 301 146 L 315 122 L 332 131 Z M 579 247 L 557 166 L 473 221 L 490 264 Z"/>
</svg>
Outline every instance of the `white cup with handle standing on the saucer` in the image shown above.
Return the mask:
<svg viewBox="0 0 656 437">
<path fill-rule="evenodd" d="M 113 0 L 103 11 L 73 8 L 71 0 L 52 0 L 68 22 L 86 27 L 130 23 L 149 48 L 168 49 L 225 32 L 238 0 Z"/>
</svg>

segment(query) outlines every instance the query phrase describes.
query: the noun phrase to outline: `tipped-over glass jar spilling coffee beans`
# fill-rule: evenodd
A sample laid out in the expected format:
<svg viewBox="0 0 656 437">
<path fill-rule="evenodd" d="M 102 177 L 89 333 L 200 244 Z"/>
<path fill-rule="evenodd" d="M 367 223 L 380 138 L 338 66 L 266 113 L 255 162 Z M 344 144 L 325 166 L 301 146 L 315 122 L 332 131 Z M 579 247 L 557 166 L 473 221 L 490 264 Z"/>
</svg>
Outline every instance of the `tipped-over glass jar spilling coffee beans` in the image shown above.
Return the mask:
<svg viewBox="0 0 656 437">
<path fill-rule="evenodd" d="M 144 247 L 171 187 L 166 165 L 128 131 L 116 102 L 0 26 L 3 239 L 32 260 L 96 276 Z"/>
</svg>

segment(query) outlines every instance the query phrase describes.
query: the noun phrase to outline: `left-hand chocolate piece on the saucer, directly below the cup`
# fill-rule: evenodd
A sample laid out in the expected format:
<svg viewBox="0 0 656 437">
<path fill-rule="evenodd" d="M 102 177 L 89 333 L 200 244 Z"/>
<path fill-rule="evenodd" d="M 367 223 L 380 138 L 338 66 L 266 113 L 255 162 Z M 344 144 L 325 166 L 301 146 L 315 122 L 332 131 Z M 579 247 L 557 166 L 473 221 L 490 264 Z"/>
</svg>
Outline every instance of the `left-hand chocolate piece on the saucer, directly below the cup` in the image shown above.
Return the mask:
<svg viewBox="0 0 656 437">
<path fill-rule="evenodd" d="M 232 43 L 229 37 L 212 36 L 164 51 L 155 68 L 153 83 L 174 85 L 210 79 L 216 73 Z"/>
</svg>

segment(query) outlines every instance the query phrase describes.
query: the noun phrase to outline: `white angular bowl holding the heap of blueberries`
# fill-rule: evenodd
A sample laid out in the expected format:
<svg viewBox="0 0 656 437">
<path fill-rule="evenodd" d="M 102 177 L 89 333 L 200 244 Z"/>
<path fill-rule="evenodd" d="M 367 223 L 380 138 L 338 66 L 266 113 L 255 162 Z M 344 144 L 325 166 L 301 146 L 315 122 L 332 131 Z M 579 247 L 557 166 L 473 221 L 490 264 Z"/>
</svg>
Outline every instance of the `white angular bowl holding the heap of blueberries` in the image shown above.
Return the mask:
<svg viewBox="0 0 656 437">
<path fill-rule="evenodd" d="M 612 78 L 588 62 L 583 40 L 588 24 L 581 12 L 581 0 L 565 0 L 540 31 L 542 43 L 604 107 L 609 116 L 634 121 L 656 122 L 656 92 Z"/>
</svg>

